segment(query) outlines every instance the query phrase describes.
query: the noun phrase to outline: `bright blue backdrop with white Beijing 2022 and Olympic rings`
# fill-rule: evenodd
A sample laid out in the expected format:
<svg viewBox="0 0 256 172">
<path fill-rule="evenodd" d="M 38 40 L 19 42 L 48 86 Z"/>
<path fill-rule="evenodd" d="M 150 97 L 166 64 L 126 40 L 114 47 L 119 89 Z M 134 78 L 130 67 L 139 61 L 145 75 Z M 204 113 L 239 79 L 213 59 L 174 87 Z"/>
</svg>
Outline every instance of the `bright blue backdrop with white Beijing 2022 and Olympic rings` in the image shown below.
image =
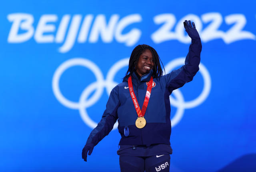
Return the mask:
<svg viewBox="0 0 256 172">
<path fill-rule="evenodd" d="M 0 171 L 114 172 L 113 129 L 82 148 L 133 48 L 179 68 L 195 22 L 200 71 L 173 92 L 172 172 L 256 171 L 255 1 L 5 1 L 0 10 Z"/>
</svg>

